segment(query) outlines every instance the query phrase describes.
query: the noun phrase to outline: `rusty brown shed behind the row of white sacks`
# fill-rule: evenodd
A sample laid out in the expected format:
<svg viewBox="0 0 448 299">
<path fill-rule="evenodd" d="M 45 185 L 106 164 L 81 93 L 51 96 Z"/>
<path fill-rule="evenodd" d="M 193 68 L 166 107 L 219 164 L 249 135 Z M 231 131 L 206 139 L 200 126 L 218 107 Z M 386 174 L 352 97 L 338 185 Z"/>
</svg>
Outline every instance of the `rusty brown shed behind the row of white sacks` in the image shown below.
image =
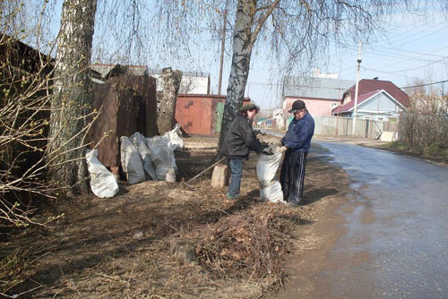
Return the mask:
<svg viewBox="0 0 448 299">
<path fill-rule="evenodd" d="M 90 129 L 90 148 L 96 145 L 99 161 L 114 169 L 120 165 L 121 136 L 134 132 L 145 137 L 157 134 L 156 81 L 147 74 L 121 73 L 104 83 L 95 83 L 93 94 L 93 108 L 100 114 Z M 105 134 L 107 137 L 102 139 Z"/>
</svg>

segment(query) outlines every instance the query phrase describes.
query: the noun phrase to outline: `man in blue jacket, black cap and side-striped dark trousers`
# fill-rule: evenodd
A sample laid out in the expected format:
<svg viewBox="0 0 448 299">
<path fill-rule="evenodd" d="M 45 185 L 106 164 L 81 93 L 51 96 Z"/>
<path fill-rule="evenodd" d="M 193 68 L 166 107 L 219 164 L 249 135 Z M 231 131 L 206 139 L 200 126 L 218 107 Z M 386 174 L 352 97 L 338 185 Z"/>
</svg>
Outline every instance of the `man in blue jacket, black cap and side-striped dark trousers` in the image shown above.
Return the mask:
<svg viewBox="0 0 448 299">
<path fill-rule="evenodd" d="M 280 170 L 281 190 L 289 206 L 297 206 L 304 192 L 306 155 L 314 134 L 314 119 L 306 110 L 305 102 L 298 99 L 289 113 L 294 114 L 281 144 L 286 149 Z"/>
</svg>

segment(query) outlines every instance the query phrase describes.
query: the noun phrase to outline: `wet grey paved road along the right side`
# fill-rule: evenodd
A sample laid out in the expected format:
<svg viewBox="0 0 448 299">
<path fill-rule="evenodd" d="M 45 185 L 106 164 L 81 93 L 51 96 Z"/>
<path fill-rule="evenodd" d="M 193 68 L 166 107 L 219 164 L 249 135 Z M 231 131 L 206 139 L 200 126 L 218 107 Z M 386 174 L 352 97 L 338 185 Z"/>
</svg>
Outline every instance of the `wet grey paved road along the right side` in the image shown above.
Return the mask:
<svg viewBox="0 0 448 299">
<path fill-rule="evenodd" d="M 337 211 L 344 233 L 307 298 L 448 298 L 448 167 L 316 143 L 350 175 L 353 192 Z"/>
</svg>

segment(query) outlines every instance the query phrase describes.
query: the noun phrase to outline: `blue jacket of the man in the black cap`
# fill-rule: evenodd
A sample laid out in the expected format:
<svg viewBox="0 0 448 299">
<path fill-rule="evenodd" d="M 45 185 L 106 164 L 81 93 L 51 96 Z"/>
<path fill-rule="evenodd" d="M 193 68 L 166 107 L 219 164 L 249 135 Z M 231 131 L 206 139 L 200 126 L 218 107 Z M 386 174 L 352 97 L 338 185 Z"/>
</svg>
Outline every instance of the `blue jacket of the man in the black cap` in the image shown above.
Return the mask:
<svg viewBox="0 0 448 299">
<path fill-rule="evenodd" d="M 311 138 L 314 134 L 314 119 L 306 112 L 306 115 L 297 121 L 294 118 L 288 127 L 281 144 L 286 145 L 289 151 L 308 151 Z"/>
</svg>

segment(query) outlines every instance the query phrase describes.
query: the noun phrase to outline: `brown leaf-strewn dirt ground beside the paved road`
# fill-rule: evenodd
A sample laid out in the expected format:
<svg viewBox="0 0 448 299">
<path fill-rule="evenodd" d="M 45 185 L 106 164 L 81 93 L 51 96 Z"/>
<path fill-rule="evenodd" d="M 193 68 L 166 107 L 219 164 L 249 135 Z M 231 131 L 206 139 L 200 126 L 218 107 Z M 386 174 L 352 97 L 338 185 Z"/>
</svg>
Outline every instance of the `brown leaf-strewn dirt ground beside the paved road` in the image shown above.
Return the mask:
<svg viewBox="0 0 448 299">
<path fill-rule="evenodd" d="M 64 218 L 2 234 L 1 295 L 258 298 L 288 288 L 285 265 L 329 242 L 313 227 L 343 200 L 349 178 L 317 148 L 298 208 L 260 201 L 256 154 L 244 165 L 237 201 L 226 199 L 225 188 L 211 189 L 211 171 L 190 183 L 193 189 L 180 184 L 211 165 L 216 143 L 185 138 L 177 183 L 123 183 L 112 199 L 52 202 L 36 218 Z"/>
</svg>

